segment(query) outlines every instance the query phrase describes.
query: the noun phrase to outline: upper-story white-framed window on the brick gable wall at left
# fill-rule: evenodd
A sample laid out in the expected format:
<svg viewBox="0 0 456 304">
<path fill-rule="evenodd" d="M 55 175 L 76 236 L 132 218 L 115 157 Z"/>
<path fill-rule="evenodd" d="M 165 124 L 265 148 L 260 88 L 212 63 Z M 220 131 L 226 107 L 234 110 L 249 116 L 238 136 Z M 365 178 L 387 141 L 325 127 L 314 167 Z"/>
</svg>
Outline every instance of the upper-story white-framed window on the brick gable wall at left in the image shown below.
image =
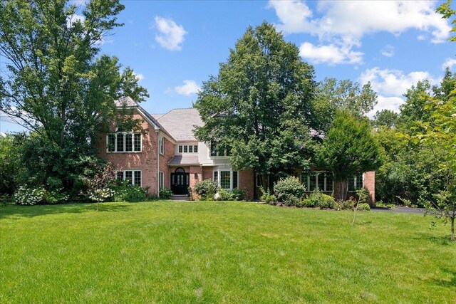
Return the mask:
<svg viewBox="0 0 456 304">
<path fill-rule="evenodd" d="M 141 133 L 118 129 L 106 136 L 106 146 L 107 152 L 141 152 Z"/>
</svg>

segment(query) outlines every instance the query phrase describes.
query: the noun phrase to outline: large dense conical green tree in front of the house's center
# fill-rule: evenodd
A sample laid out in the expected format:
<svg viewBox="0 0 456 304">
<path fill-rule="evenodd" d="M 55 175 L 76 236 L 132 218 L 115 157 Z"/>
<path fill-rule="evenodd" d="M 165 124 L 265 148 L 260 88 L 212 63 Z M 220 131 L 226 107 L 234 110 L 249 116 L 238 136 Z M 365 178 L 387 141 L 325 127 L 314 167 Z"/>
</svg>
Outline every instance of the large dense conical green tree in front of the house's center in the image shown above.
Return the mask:
<svg viewBox="0 0 456 304">
<path fill-rule="evenodd" d="M 269 23 L 247 28 L 219 74 L 202 85 L 196 136 L 231 147 L 237 169 L 272 178 L 309 165 L 314 68 Z"/>
</svg>

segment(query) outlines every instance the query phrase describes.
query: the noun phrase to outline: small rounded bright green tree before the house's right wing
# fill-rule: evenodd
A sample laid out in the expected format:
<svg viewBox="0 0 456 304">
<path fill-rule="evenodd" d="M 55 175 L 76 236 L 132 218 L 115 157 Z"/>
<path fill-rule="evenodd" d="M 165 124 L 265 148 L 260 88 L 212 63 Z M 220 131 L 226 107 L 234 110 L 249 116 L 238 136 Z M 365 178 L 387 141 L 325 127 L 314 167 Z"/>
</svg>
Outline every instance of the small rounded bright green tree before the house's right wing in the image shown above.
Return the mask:
<svg viewBox="0 0 456 304">
<path fill-rule="evenodd" d="M 333 173 L 337 198 L 345 199 L 348 177 L 380 167 L 380 150 L 371 134 L 371 126 L 346 110 L 336 112 L 323 139 L 320 159 Z"/>
</svg>

